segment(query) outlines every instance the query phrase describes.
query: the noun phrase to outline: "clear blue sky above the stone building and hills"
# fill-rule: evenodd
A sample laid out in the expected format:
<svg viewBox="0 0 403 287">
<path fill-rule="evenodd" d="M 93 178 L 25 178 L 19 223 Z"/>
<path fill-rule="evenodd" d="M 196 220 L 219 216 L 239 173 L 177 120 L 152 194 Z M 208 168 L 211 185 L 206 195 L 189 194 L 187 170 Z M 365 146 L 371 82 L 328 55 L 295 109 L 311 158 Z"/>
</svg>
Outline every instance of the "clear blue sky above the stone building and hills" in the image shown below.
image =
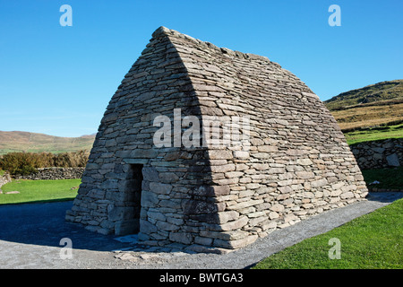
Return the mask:
<svg viewBox="0 0 403 287">
<path fill-rule="evenodd" d="M 72 27 L 59 23 L 62 4 Z M 330 4 L 340 27 L 328 24 Z M 402 79 L 402 12 L 401 0 L 0 0 L 0 130 L 95 133 L 159 26 L 269 57 L 321 100 Z"/>
</svg>

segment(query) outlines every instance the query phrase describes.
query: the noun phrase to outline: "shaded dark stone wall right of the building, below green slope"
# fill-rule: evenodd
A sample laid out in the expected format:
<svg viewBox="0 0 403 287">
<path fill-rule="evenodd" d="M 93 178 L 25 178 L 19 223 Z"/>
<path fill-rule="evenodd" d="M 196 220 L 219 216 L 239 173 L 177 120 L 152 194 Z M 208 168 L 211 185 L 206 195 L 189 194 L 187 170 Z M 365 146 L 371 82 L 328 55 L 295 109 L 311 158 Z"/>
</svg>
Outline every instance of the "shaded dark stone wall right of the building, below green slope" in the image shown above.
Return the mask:
<svg viewBox="0 0 403 287">
<path fill-rule="evenodd" d="M 361 170 L 403 165 L 403 138 L 356 143 L 350 146 Z"/>
</svg>

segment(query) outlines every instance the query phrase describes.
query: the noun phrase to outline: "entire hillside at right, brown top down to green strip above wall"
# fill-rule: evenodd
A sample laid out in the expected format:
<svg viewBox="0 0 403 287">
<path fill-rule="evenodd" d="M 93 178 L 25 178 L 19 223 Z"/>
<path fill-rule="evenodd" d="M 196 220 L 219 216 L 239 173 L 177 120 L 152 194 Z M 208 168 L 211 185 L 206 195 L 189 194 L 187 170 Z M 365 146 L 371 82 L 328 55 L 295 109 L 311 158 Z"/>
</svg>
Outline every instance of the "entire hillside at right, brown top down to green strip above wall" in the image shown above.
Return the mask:
<svg viewBox="0 0 403 287">
<path fill-rule="evenodd" d="M 403 80 L 342 92 L 324 103 L 349 144 L 403 137 Z"/>
</svg>

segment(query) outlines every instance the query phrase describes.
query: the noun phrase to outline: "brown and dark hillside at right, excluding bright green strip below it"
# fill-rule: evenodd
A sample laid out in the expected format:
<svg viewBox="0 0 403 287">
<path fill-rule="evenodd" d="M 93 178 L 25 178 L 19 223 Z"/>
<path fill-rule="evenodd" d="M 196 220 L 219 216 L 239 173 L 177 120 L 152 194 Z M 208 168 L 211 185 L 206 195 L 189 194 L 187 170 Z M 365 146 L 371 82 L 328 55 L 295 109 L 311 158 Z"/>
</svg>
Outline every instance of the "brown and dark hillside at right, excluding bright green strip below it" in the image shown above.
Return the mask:
<svg viewBox="0 0 403 287">
<path fill-rule="evenodd" d="M 324 104 L 344 132 L 403 122 L 403 80 L 385 81 L 345 91 Z"/>
</svg>

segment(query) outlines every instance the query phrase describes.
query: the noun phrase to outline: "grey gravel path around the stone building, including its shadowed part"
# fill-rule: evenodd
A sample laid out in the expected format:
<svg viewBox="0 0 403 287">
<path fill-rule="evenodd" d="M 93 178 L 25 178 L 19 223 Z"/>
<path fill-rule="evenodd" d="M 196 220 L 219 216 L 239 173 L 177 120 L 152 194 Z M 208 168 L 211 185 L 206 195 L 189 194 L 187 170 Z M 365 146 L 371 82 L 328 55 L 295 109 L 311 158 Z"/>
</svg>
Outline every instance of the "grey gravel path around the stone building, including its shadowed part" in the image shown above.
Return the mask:
<svg viewBox="0 0 403 287">
<path fill-rule="evenodd" d="M 224 255 L 184 252 L 133 252 L 130 243 L 64 222 L 72 202 L 0 206 L 0 268 L 159 268 L 240 269 L 256 264 L 306 238 L 322 234 L 365 213 L 390 204 L 403 193 L 370 194 L 368 200 L 332 210 Z M 73 258 L 60 240 L 73 243 Z M 67 254 L 68 255 L 68 254 Z"/>
</svg>

